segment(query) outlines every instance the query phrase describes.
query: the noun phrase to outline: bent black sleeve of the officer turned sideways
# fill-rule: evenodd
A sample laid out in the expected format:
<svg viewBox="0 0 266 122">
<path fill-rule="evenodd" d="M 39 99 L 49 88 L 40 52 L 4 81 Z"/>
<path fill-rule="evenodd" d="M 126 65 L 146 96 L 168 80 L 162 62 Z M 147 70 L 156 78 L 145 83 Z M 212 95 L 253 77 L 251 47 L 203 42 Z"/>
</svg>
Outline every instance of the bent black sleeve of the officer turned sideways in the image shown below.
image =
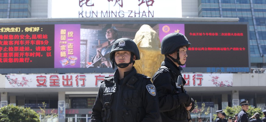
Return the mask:
<svg viewBox="0 0 266 122">
<path fill-rule="evenodd" d="M 178 108 L 181 103 L 186 103 L 185 93 L 173 94 L 174 86 L 171 84 L 169 72 L 159 72 L 153 77 L 153 84 L 158 92 L 160 112 Z"/>
</svg>

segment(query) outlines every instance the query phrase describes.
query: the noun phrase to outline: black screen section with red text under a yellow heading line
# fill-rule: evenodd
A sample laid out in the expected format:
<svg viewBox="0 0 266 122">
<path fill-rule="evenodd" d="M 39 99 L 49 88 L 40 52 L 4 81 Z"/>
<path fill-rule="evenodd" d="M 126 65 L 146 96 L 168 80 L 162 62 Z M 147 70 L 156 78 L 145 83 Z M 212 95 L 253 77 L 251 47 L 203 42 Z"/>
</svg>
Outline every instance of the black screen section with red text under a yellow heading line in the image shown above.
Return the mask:
<svg viewBox="0 0 266 122">
<path fill-rule="evenodd" d="M 1 68 L 54 68 L 54 25 L 1 25 Z"/>
</svg>

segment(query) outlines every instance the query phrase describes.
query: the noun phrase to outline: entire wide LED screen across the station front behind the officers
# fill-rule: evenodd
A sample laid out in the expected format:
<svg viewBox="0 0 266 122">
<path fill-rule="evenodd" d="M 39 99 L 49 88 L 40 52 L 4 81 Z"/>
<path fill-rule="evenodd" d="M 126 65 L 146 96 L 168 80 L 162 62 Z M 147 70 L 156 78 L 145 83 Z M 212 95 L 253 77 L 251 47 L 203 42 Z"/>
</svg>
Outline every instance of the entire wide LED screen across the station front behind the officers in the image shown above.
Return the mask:
<svg viewBox="0 0 266 122">
<path fill-rule="evenodd" d="M 112 43 L 118 38 L 134 39 L 142 25 L 0 25 L 0 67 L 112 68 Z M 204 72 L 249 72 L 246 24 L 148 25 L 160 40 L 172 32 L 187 37 L 191 46 L 184 67 L 204 67 Z"/>
</svg>

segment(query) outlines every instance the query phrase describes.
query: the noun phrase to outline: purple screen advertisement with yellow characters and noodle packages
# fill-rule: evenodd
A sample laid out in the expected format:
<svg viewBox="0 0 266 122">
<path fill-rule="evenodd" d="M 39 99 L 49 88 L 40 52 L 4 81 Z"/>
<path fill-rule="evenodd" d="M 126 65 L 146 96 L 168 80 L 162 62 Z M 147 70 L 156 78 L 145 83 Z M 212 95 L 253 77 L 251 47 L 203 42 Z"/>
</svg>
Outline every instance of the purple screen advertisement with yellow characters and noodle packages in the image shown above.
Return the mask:
<svg viewBox="0 0 266 122">
<path fill-rule="evenodd" d="M 55 68 L 80 68 L 80 24 L 55 25 Z"/>
</svg>

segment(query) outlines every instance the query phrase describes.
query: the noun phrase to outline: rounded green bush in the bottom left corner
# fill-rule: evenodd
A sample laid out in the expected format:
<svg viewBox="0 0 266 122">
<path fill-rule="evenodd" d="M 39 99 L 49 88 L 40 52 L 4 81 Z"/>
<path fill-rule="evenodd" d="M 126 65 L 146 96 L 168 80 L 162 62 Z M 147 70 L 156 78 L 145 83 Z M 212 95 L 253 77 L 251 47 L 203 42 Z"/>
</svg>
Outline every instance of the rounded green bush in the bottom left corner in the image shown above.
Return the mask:
<svg viewBox="0 0 266 122">
<path fill-rule="evenodd" d="M 7 105 L 0 108 L 0 122 L 40 122 L 40 119 L 30 108 Z"/>
</svg>

